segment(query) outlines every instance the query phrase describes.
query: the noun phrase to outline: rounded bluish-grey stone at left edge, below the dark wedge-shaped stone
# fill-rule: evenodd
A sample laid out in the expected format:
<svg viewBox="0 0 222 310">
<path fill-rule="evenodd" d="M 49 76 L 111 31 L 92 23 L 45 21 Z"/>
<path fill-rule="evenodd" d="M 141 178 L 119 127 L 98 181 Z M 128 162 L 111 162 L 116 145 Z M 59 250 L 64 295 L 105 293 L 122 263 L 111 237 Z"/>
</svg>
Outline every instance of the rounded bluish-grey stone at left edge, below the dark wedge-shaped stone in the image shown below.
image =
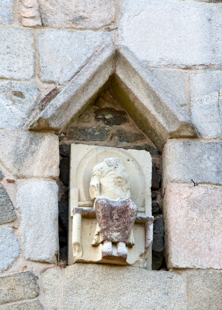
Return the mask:
<svg viewBox="0 0 222 310">
<path fill-rule="evenodd" d="M 20 254 L 20 244 L 11 227 L 0 228 L 0 272 L 15 263 Z"/>
</svg>

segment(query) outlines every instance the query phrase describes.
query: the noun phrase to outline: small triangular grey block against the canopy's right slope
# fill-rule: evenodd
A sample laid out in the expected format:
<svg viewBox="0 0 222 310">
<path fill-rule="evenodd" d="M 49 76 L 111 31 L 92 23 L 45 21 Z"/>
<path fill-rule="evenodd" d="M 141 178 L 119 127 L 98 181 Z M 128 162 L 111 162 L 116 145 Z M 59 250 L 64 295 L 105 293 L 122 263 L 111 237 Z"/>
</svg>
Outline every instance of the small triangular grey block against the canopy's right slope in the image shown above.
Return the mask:
<svg viewBox="0 0 222 310">
<path fill-rule="evenodd" d="M 149 70 L 160 84 L 169 92 L 169 94 L 181 106 L 187 104 L 187 96 L 184 85 L 183 74 L 179 70 L 163 70 L 150 69 Z"/>
</svg>

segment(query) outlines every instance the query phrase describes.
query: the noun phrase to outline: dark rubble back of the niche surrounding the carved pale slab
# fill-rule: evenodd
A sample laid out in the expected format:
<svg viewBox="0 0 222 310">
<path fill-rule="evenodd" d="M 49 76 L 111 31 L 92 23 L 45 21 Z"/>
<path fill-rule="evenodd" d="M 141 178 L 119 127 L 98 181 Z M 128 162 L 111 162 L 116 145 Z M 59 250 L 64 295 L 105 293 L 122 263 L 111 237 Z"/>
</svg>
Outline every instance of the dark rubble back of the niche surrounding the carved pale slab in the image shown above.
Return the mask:
<svg viewBox="0 0 222 310">
<path fill-rule="evenodd" d="M 155 145 L 139 129 L 121 104 L 113 98 L 108 89 L 97 96 L 96 100 L 88 106 L 78 119 L 64 130 L 59 140 L 60 176 L 57 184 L 59 185 L 60 263 L 67 263 L 70 144 L 81 143 L 150 152 L 152 156 L 152 215 L 154 216 L 152 269 L 166 270 L 162 198 L 160 195 L 161 154 Z"/>
</svg>

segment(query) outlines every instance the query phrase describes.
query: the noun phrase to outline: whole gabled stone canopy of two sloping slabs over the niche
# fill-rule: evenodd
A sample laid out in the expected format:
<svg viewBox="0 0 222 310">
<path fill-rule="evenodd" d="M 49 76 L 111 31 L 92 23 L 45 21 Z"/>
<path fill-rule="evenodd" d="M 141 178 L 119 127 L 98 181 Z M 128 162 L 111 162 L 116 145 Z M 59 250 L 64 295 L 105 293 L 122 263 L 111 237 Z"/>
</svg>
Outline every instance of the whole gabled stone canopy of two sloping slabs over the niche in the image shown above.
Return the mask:
<svg viewBox="0 0 222 310">
<path fill-rule="evenodd" d="M 103 47 L 30 124 L 60 134 L 105 89 L 162 151 L 169 138 L 197 137 L 187 112 L 127 47 Z"/>
</svg>

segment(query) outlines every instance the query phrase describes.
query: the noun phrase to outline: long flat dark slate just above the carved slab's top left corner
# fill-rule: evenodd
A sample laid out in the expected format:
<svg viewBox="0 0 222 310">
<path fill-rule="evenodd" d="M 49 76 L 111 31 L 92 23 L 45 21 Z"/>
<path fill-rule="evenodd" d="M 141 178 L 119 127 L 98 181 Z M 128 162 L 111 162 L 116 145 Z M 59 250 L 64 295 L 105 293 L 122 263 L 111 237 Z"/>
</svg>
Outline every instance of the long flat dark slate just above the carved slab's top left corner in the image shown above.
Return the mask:
<svg viewBox="0 0 222 310">
<path fill-rule="evenodd" d="M 104 141 L 110 131 L 109 127 L 71 127 L 67 133 L 67 139 L 73 140 L 93 140 L 93 141 Z"/>
</svg>

